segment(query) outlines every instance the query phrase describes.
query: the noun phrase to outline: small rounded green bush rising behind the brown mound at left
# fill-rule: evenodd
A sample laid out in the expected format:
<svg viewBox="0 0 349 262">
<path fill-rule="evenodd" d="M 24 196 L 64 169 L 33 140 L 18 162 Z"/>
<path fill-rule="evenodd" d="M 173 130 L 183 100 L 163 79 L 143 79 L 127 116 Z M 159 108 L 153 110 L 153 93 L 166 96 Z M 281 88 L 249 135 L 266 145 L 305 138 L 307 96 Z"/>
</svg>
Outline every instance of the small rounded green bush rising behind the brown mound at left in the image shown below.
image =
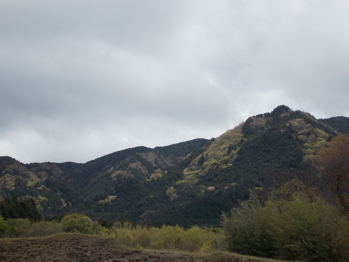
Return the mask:
<svg viewBox="0 0 349 262">
<path fill-rule="evenodd" d="M 68 214 L 61 219 L 61 227 L 64 232 L 101 234 L 102 228 L 84 214 Z"/>
</svg>

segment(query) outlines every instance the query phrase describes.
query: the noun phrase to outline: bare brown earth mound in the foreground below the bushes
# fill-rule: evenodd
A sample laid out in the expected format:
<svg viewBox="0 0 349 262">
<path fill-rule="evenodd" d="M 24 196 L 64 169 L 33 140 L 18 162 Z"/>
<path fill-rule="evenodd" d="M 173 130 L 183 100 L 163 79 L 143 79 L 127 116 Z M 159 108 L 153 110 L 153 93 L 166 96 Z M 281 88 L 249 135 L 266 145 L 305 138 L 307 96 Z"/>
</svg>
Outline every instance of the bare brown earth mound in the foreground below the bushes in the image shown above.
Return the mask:
<svg viewBox="0 0 349 262">
<path fill-rule="evenodd" d="M 233 254 L 195 254 L 169 251 L 139 251 L 120 247 L 112 239 L 66 233 L 46 238 L 0 239 L 0 261 L 232 261 L 259 262 Z"/>
</svg>

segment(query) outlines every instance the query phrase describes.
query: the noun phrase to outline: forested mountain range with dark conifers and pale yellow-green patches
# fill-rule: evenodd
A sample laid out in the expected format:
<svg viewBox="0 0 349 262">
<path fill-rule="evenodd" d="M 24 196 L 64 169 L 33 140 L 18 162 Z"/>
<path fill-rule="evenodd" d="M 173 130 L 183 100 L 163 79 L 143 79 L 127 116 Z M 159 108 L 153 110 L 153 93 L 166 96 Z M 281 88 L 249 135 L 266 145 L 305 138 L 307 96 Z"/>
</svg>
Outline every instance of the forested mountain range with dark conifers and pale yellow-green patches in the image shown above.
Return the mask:
<svg viewBox="0 0 349 262">
<path fill-rule="evenodd" d="M 47 219 L 80 212 L 155 226 L 217 226 L 250 189 L 263 197 L 292 177 L 315 182 L 316 152 L 348 126 L 348 117 L 315 119 L 279 105 L 211 140 L 134 147 L 87 163 L 0 157 L 0 198 L 34 199 Z"/>
</svg>

